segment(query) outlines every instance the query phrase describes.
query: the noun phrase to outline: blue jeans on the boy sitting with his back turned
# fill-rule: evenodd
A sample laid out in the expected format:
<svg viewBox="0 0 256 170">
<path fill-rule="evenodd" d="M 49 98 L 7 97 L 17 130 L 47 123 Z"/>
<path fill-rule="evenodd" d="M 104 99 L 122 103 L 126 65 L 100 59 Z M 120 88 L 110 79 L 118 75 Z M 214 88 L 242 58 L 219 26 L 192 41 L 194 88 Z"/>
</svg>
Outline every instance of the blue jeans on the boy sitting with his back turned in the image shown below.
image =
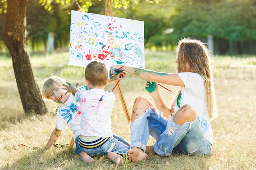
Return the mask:
<svg viewBox="0 0 256 170">
<path fill-rule="evenodd" d="M 118 153 L 121 155 L 126 155 L 126 151 L 128 149 L 130 149 L 129 142 L 126 141 L 125 139 L 119 137 L 116 134 L 113 134 L 113 137 L 110 137 L 110 139 L 108 139 L 108 141 L 103 146 L 101 146 L 97 149 L 82 148 L 79 145 L 79 136 L 76 137 L 75 143 L 76 143 L 75 151 L 77 154 L 80 154 L 81 151 L 84 151 L 84 152 L 88 153 L 90 156 L 97 155 L 98 153 L 102 154 L 102 155 L 106 155 L 108 152 L 115 152 L 115 153 Z M 115 143 L 115 144 L 112 145 L 113 143 Z"/>
</svg>

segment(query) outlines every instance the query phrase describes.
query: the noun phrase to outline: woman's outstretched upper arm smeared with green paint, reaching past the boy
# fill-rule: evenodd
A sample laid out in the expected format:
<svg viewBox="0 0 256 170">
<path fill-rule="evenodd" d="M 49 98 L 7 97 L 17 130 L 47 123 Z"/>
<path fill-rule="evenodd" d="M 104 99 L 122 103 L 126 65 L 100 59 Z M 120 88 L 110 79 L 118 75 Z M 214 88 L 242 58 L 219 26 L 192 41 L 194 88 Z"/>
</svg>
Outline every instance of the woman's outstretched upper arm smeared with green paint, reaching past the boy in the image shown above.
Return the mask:
<svg viewBox="0 0 256 170">
<path fill-rule="evenodd" d="M 119 69 L 121 68 L 121 69 Z M 149 82 L 157 82 L 157 83 L 163 83 L 173 86 L 185 86 L 184 82 L 177 74 L 172 73 L 162 73 L 162 72 L 156 72 L 144 68 L 137 68 L 132 66 L 125 66 L 125 65 L 116 65 L 110 67 L 110 74 L 116 75 L 119 72 L 127 72 L 131 75 L 135 75 L 136 77 L 139 77 L 140 79 L 143 79 L 145 81 Z"/>
</svg>

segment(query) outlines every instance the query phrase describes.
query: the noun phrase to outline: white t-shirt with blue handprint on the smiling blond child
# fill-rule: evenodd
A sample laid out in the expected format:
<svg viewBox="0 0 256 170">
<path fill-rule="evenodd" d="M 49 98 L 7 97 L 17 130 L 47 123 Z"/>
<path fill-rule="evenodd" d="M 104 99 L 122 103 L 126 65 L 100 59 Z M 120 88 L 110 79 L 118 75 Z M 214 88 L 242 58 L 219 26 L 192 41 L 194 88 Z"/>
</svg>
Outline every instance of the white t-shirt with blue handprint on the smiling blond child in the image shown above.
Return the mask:
<svg viewBox="0 0 256 170">
<path fill-rule="evenodd" d="M 81 86 L 79 89 L 88 90 L 87 86 Z M 58 130 L 66 130 L 67 126 L 70 126 L 70 129 L 74 131 L 73 137 L 76 139 L 79 135 L 81 112 L 80 104 L 75 101 L 73 95 L 70 95 L 65 103 L 56 108 L 55 118 L 55 127 Z"/>
</svg>

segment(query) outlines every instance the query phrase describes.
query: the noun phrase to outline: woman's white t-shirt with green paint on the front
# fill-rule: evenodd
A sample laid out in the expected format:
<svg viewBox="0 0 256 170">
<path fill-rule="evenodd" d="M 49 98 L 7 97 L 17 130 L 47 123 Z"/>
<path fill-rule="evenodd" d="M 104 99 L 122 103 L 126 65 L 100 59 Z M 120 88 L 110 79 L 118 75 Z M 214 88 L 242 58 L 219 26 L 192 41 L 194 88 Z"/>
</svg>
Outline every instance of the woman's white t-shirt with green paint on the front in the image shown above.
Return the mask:
<svg viewBox="0 0 256 170">
<path fill-rule="evenodd" d="M 191 105 L 200 119 L 202 129 L 205 131 L 204 137 L 213 144 L 213 132 L 208 114 L 204 79 L 198 73 L 186 72 L 178 73 L 178 75 L 184 82 L 185 87 L 181 88 L 177 99 L 172 102 L 175 113 L 181 106 Z"/>
</svg>

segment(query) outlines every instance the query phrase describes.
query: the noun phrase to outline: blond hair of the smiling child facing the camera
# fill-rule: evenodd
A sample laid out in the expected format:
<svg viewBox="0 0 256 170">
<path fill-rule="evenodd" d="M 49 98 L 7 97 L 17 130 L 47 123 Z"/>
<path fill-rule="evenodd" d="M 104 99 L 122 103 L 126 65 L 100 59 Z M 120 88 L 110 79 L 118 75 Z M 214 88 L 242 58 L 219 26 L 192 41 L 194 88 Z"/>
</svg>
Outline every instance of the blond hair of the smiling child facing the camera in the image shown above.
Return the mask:
<svg viewBox="0 0 256 170">
<path fill-rule="evenodd" d="M 52 92 L 56 90 L 57 87 L 62 87 L 66 84 L 65 80 L 58 76 L 51 76 L 44 80 L 42 87 L 42 96 L 45 99 L 50 99 Z"/>
</svg>

